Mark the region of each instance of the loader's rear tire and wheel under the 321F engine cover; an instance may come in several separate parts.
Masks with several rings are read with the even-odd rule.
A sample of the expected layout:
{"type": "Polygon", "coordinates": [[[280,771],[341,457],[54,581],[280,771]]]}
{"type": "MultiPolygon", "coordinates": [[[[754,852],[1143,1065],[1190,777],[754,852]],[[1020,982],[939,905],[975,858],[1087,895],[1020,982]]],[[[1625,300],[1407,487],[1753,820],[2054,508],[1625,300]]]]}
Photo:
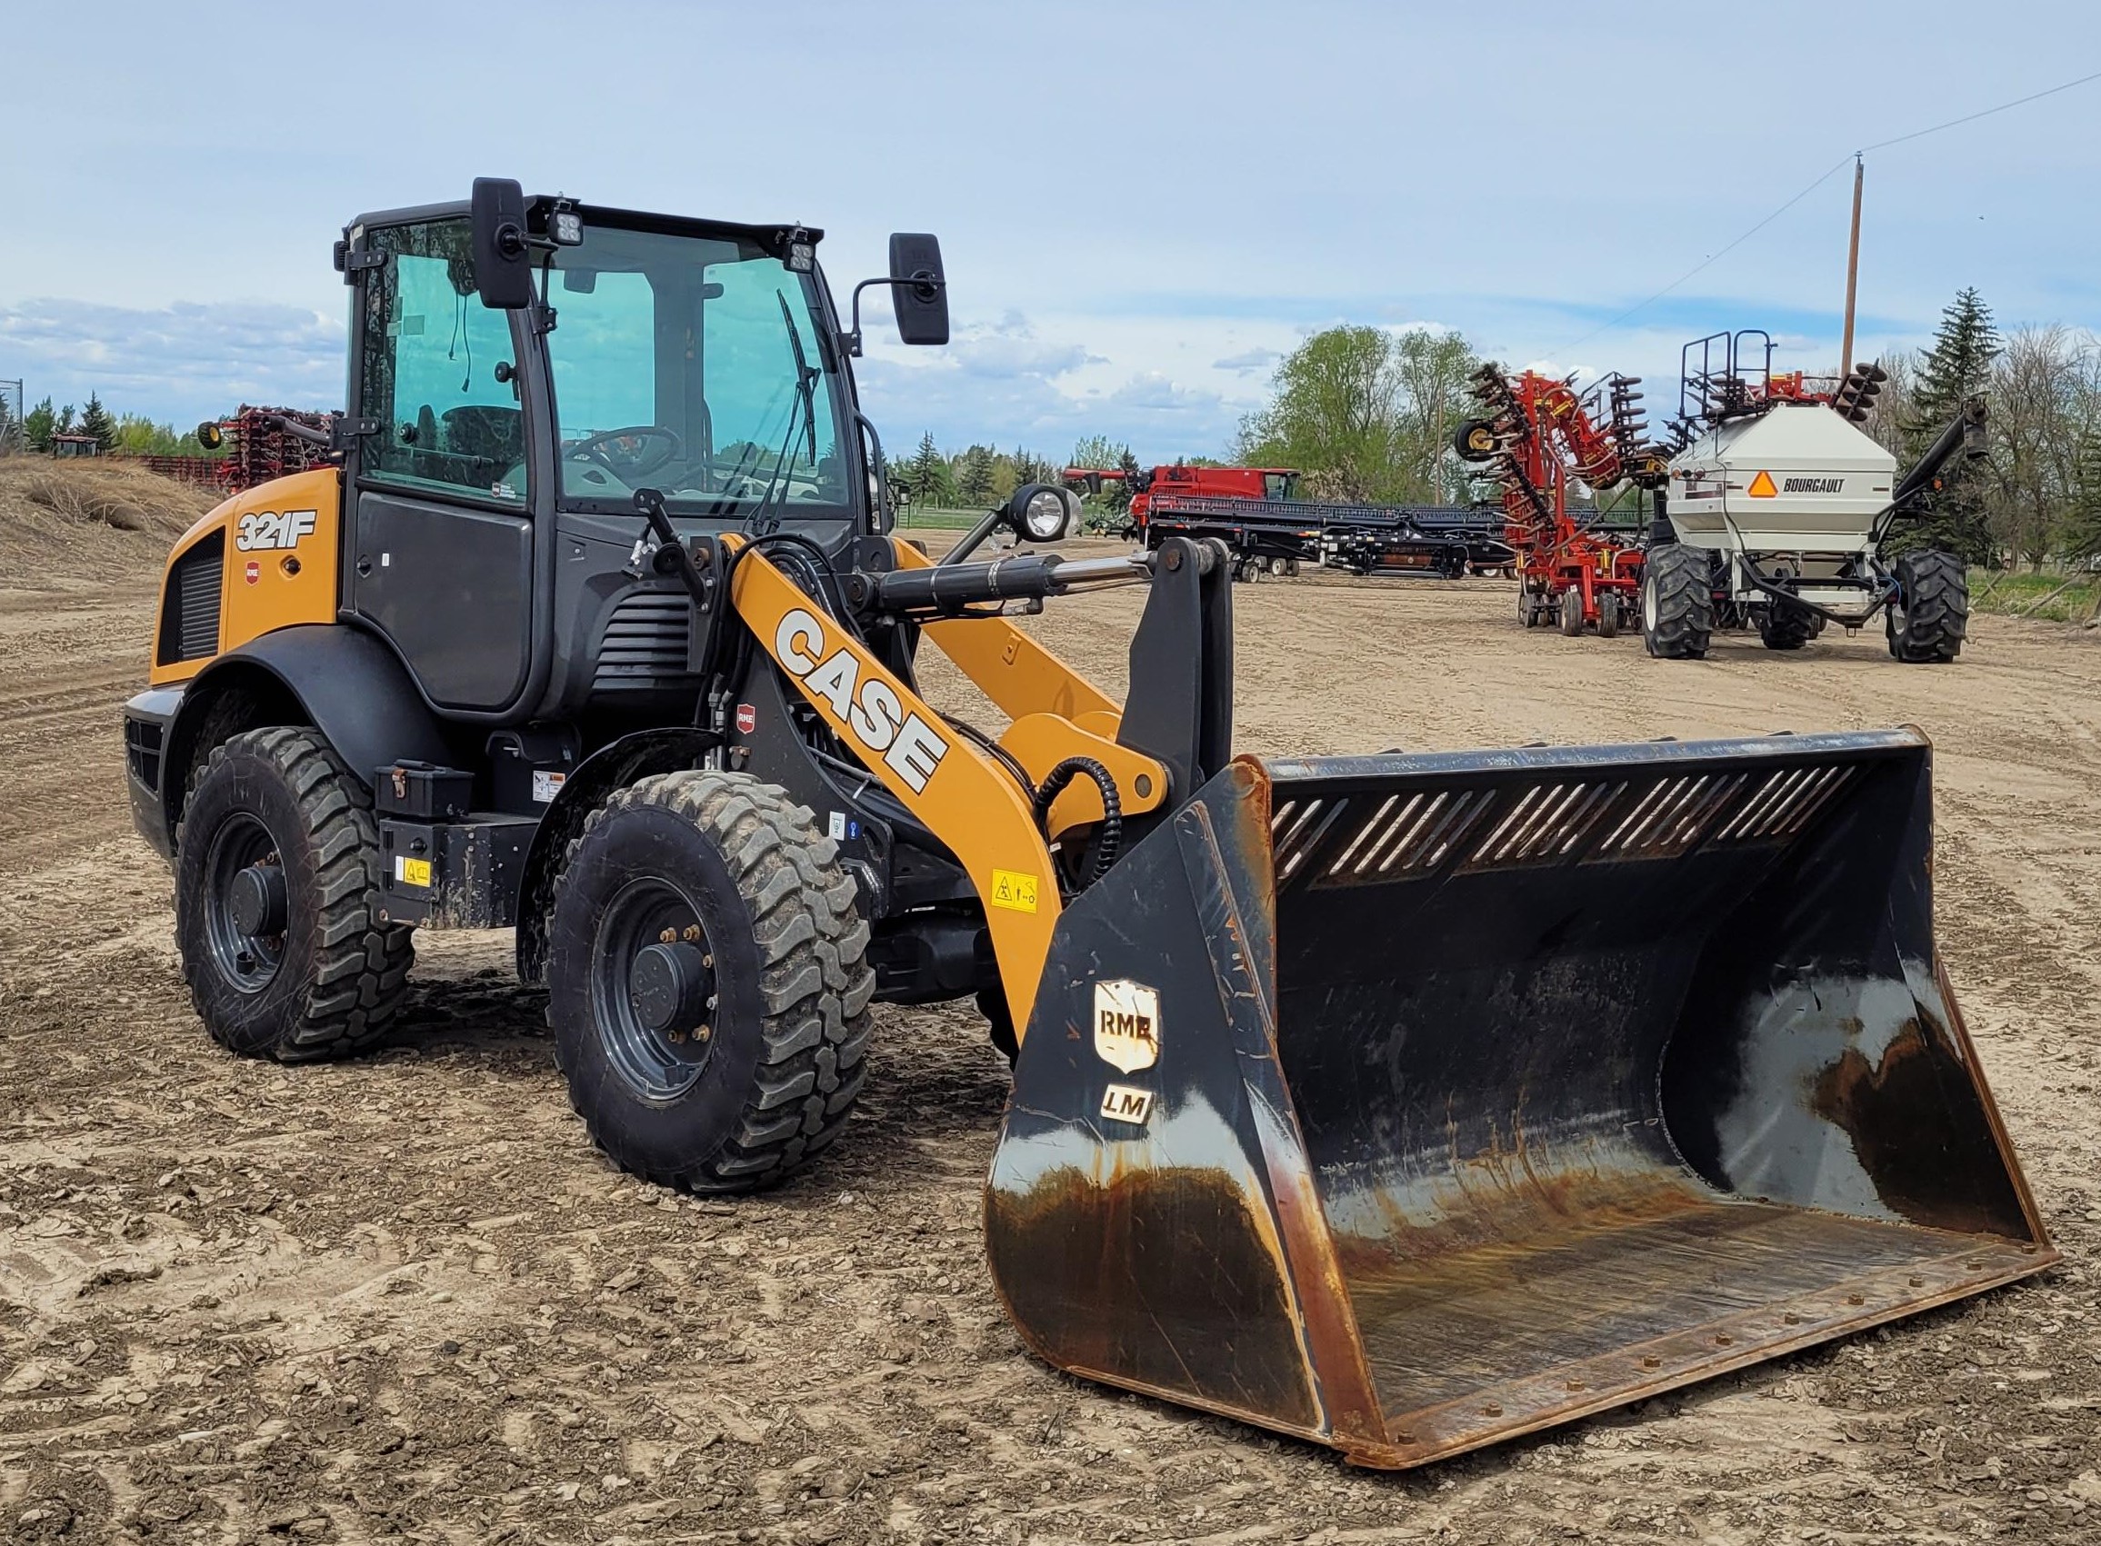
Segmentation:
{"type": "Polygon", "coordinates": [[[174,836],[174,941],[204,1029],[311,1063],[387,1033],[414,931],[378,920],[372,796],[319,731],[246,731],[197,769],[174,836]]]}

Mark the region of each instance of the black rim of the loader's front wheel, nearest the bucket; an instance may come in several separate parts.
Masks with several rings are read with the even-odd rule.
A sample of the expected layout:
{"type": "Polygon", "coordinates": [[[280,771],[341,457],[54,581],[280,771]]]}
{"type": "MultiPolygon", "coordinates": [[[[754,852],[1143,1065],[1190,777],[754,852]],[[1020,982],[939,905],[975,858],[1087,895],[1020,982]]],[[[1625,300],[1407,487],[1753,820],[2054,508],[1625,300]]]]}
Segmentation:
{"type": "Polygon", "coordinates": [[[714,1054],[714,949],[700,910],[668,880],[630,880],[607,903],[590,952],[590,1019],[613,1073],[645,1101],[677,1101],[693,1088],[714,1054]],[[651,1029],[635,1008],[632,973],[649,945],[698,945],[710,964],[706,1019],[651,1029]]]}

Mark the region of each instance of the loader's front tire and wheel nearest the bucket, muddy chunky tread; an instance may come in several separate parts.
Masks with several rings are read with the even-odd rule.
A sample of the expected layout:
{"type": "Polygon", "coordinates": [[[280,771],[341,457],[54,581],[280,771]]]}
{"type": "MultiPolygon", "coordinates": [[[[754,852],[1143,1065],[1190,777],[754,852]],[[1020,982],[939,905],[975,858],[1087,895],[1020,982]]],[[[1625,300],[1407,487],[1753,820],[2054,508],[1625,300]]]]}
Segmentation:
{"type": "Polygon", "coordinates": [[[861,1092],[866,954],[838,844],[786,790],[639,779],[590,815],[555,882],[546,1015],[569,1103],[647,1181],[782,1181],[861,1092]]]}

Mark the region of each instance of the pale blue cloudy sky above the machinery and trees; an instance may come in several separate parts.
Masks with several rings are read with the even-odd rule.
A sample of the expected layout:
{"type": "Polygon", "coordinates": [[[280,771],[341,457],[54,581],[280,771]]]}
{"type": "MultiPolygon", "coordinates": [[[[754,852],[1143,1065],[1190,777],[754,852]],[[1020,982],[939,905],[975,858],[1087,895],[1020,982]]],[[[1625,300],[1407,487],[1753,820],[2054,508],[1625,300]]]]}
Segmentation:
{"type": "MultiPolygon", "coordinates": [[[[342,399],[328,265],[366,208],[477,174],[826,227],[834,288],[937,231],[956,342],[864,397],[1063,456],[1216,454],[1332,321],[1628,370],[1765,326],[1836,359],[1864,143],[2101,69],[2101,6],[111,4],[8,29],[0,378],[193,422],[342,399]]],[[[1977,286],[2101,330],[2101,82],[1868,158],[1859,353],[1977,286]]],[[[1651,391],[1651,403],[1664,393],[1651,391]]]]}

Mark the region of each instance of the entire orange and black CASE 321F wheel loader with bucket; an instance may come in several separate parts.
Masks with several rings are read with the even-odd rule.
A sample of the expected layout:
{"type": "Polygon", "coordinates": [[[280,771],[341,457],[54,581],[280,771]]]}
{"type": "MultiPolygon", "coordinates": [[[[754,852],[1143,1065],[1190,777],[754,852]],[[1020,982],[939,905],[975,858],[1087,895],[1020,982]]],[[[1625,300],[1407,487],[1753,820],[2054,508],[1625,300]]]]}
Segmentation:
{"type": "MultiPolygon", "coordinates": [[[[740,1191],[838,1136],[872,1000],[975,994],[1029,1346],[1372,1466],[2055,1260],[1918,733],[1235,756],[1221,548],[975,557],[1050,487],[889,534],[815,246],[498,181],[345,231],[338,460],[176,544],[126,708],[212,1036],[355,1052],[416,928],[515,926],[592,1138],[740,1191]],[[1002,615],[1118,584],[1124,704],[1002,615]]],[[[935,242],[891,269],[945,340],[935,242]]]]}

